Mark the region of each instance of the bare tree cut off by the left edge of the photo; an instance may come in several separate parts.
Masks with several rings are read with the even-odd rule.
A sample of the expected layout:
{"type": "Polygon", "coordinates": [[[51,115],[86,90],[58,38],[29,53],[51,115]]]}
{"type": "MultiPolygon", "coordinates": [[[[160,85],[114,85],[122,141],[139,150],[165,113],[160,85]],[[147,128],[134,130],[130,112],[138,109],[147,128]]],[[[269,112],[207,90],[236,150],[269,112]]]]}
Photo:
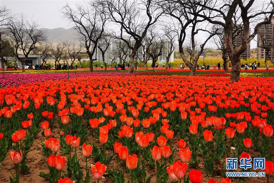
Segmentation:
{"type": "Polygon", "coordinates": [[[5,60],[4,56],[11,56],[12,50],[10,50],[10,43],[6,40],[5,32],[6,27],[9,25],[10,20],[12,19],[12,15],[9,9],[6,6],[0,7],[0,57],[3,62],[4,71],[6,70],[7,60],[5,60]]]}

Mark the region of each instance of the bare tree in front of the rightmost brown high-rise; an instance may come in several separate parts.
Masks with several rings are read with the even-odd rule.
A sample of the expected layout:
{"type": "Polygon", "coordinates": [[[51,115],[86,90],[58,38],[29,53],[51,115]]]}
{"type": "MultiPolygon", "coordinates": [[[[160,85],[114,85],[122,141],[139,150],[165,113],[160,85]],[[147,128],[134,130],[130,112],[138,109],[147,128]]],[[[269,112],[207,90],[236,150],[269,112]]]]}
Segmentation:
{"type": "Polygon", "coordinates": [[[269,55],[269,53],[274,48],[274,37],[272,35],[269,35],[268,30],[269,30],[268,25],[262,25],[258,29],[258,40],[257,40],[257,46],[259,48],[264,49],[266,70],[268,70],[269,68],[269,65],[267,63],[268,59],[270,60],[272,64],[274,64],[274,61],[272,60],[272,55],[269,55]]]}

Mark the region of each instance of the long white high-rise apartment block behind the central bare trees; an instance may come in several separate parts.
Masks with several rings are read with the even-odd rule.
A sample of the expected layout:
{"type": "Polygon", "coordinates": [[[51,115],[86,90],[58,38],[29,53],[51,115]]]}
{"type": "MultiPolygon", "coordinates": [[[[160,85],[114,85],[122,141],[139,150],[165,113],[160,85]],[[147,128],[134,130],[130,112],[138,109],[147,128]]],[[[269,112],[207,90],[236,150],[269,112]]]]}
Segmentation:
{"type": "MultiPolygon", "coordinates": [[[[132,46],[136,42],[136,40],[132,39],[132,38],[131,39],[126,38],[126,39],[129,41],[130,45],[132,45],[132,46]]],[[[114,54],[116,54],[118,52],[119,44],[120,44],[121,40],[120,39],[112,39],[110,42],[111,43],[110,43],[107,51],[105,52],[105,62],[110,64],[112,59],[115,58],[115,62],[119,63],[120,62],[119,57],[114,56],[114,54]]],[[[106,42],[105,41],[100,41],[99,45],[101,45],[101,48],[103,50],[106,48],[106,42]]],[[[170,48],[170,42],[167,41],[167,42],[165,42],[165,44],[162,48],[162,55],[158,57],[158,62],[160,62],[160,63],[165,62],[166,56],[169,53],[169,48],[170,48]]],[[[126,51],[127,51],[127,56],[126,56],[126,58],[123,58],[123,60],[125,60],[125,62],[129,62],[130,61],[131,49],[128,48],[128,49],[126,49],[126,51]]],[[[102,61],[102,53],[101,53],[99,48],[96,49],[96,54],[94,54],[93,58],[97,58],[97,61],[102,61]]],[[[142,49],[142,47],[140,47],[138,49],[136,59],[137,59],[137,62],[141,62],[143,60],[143,49],[142,49]]],[[[173,56],[173,54],[171,54],[171,57],[170,57],[169,61],[172,62],[173,60],[174,60],[174,56],[173,56]]],[[[151,61],[151,59],[149,59],[149,61],[151,61]]]]}

